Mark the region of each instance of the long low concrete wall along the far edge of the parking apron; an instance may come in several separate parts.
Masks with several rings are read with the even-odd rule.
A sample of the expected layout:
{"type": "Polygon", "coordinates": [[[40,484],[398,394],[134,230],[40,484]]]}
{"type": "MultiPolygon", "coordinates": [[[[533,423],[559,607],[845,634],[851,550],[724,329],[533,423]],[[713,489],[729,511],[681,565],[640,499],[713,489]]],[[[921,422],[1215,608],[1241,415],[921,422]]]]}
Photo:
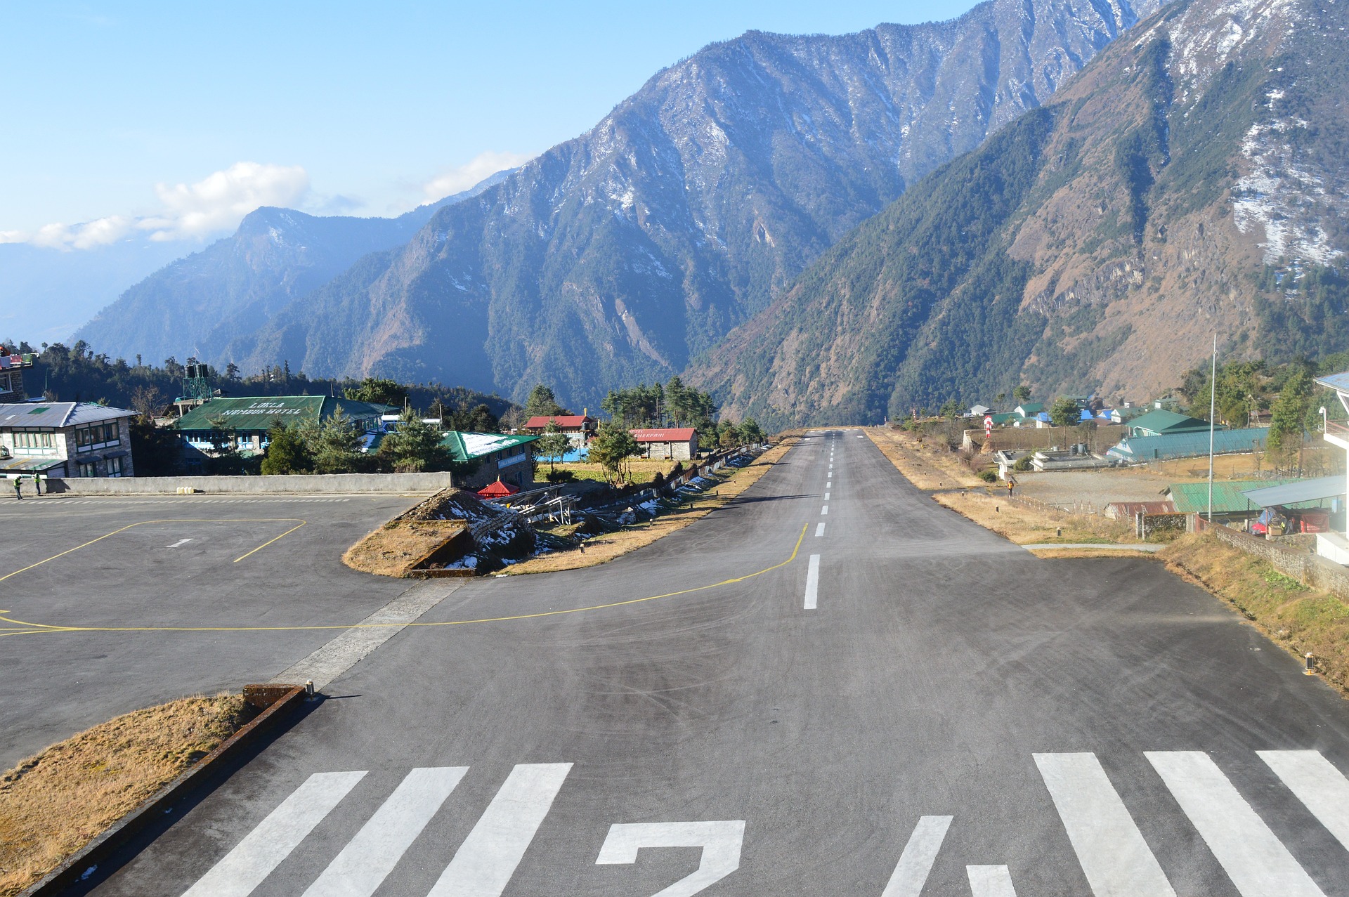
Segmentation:
{"type": "Polygon", "coordinates": [[[71,495],[173,495],[179,487],[206,494],[436,492],[449,473],[294,473],[283,476],[131,476],[50,479],[45,491],[71,495]]]}

